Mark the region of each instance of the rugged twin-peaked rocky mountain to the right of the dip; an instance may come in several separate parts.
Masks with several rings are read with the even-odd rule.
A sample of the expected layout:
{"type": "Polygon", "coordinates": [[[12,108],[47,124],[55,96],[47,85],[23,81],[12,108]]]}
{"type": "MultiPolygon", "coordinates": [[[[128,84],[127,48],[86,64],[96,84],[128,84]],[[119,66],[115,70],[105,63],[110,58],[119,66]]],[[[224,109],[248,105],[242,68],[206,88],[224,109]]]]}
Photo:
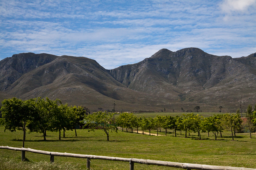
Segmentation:
{"type": "Polygon", "coordinates": [[[254,55],[233,59],[210,55],[199,48],[176,52],[161,49],[150,58],[109,73],[126,87],[140,92],[236,109],[241,95],[248,104],[255,104],[254,55]]]}

